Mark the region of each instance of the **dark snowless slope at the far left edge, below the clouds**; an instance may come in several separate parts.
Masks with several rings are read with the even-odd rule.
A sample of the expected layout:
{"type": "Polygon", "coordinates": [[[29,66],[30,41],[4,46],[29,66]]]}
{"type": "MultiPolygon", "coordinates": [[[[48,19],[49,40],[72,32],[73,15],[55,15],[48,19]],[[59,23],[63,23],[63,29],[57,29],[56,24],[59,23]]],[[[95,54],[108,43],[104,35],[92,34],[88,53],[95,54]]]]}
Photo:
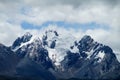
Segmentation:
{"type": "Polygon", "coordinates": [[[0,75],[12,75],[19,58],[15,53],[3,44],[0,44],[0,75]]]}

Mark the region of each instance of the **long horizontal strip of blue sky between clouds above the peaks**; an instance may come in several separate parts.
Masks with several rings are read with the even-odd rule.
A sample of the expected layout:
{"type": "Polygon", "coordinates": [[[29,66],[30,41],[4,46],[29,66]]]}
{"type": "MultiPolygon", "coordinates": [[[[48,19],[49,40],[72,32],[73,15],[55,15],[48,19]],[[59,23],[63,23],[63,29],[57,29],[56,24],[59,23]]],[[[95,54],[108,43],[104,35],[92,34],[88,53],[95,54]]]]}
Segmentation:
{"type": "Polygon", "coordinates": [[[96,28],[103,28],[103,29],[108,29],[108,26],[105,24],[97,24],[96,22],[91,22],[91,23],[70,23],[70,22],[64,22],[64,21],[47,21],[44,22],[42,25],[34,25],[28,22],[22,22],[21,26],[24,29],[40,29],[42,27],[47,27],[49,25],[56,25],[58,27],[64,27],[66,29],[68,28],[73,28],[73,29],[82,29],[82,30],[87,30],[87,29],[96,29],[96,28]]]}

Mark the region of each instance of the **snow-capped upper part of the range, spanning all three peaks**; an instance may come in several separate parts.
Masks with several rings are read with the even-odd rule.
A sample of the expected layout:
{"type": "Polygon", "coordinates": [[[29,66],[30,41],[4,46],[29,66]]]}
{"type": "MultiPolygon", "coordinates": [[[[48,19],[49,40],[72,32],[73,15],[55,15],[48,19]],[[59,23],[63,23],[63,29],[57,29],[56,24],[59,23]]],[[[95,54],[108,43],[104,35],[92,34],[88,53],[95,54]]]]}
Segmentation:
{"type": "Polygon", "coordinates": [[[32,59],[39,59],[41,51],[45,50],[45,53],[48,54],[46,58],[50,58],[57,68],[59,66],[64,67],[63,62],[67,58],[69,62],[70,55],[73,58],[96,59],[98,63],[103,61],[106,55],[104,50],[102,50],[104,45],[94,41],[91,36],[85,35],[78,41],[72,35],[63,35],[58,34],[55,30],[47,30],[40,40],[38,35],[26,33],[20,37],[23,40],[25,39],[25,41],[20,43],[16,51],[18,51],[19,55],[24,54],[32,59]]]}

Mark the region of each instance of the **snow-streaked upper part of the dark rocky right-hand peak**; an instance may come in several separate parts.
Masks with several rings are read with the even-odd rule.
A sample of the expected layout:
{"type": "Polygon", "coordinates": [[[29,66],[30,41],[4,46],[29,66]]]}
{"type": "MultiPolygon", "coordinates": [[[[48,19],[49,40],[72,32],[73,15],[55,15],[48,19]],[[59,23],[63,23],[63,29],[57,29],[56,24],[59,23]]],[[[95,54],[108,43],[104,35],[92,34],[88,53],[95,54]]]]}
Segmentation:
{"type": "Polygon", "coordinates": [[[83,36],[80,41],[75,41],[74,45],[71,46],[70,51],[72,53],[80,54],[82,58],[86,59],[99,59],[101,62],[104,58],[104,51],[101,48],[104,45],[94,41],[89,35],[83,36]]]}

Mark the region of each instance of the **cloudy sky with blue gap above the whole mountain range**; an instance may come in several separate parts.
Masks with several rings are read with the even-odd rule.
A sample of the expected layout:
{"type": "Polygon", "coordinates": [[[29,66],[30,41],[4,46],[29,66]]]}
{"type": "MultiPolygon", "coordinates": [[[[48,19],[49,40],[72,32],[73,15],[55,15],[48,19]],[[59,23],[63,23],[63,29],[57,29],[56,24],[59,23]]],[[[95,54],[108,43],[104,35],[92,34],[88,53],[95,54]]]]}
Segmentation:
{"type": "Polygon", "coordinates": [[[119,55],[120,0],[0,0],[0,43],[46,28],[91,35],[119,55]]]}

